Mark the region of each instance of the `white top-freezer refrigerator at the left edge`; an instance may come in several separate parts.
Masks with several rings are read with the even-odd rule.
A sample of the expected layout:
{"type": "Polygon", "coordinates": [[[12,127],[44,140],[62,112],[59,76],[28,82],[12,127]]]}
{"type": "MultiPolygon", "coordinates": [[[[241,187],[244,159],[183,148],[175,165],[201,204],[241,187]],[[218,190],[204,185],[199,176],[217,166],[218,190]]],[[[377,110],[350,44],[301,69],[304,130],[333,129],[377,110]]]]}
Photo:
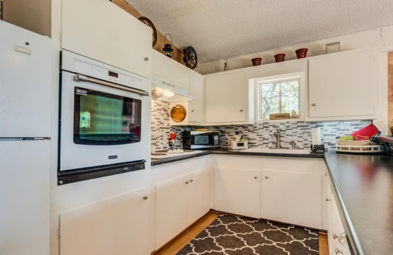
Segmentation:
{"type": "Polygon", "coordinates": [[[0,21],[0,254],[49,255],[51,39],[0,21]]]}

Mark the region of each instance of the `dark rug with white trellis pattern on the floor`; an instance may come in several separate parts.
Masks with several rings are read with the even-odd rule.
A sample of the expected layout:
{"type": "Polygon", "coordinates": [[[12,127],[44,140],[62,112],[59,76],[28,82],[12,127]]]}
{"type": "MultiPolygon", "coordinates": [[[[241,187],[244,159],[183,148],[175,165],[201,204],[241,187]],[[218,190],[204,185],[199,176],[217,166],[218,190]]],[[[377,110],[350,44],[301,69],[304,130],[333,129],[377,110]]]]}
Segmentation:
{"type": "Polygon", "coordinates": [[[176,255],[318,255],[318,231],[221,214],[176,255]]]}

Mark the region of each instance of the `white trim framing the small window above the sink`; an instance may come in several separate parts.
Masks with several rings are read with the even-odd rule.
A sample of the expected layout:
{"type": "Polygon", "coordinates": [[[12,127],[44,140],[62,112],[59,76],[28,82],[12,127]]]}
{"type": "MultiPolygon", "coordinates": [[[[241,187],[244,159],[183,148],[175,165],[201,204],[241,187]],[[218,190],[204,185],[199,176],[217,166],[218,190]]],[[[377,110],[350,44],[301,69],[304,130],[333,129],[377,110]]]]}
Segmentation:
{"type": "Polygon", "coordinates": [[[305,101],[306,101],[306,72],[298,72],[298,73],[290,73],[276,76],[268,76],[268,77],[260,77],[253,79],[254,86],[254,123],[277,123],[277,122],[297,122],[297,121],[305,121],[306,120],[306,110],[305,110],[305,101]],[[299,79],[299,119],[286,119],[286,120],[267,120],[267,122],[263,122],[260,116],[260,99],[259,99],[259,86],[258,84],[261,82],[276,82],[282,80],[292,80],[299,79]]]}

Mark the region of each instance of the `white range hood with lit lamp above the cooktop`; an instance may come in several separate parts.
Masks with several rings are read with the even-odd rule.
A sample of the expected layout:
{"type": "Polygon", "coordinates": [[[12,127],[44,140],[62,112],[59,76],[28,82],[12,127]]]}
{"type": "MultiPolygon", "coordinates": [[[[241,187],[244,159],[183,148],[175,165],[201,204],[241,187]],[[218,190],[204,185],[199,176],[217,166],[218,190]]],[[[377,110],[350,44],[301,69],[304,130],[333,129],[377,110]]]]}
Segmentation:
{"type": "Polygon", "coordinates": [[[186,102],[194,99],[189,94],[189,88],[156,75],[152,77],[151,98],[165,102],[186,102]]]}

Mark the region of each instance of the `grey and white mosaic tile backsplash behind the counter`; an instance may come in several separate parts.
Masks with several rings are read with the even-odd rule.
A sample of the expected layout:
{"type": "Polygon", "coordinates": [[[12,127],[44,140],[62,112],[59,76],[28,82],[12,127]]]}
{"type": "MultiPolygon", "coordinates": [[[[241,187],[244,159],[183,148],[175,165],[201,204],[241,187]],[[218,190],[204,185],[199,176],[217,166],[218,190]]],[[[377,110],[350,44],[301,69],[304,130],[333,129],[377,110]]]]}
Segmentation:
{"type": "MultiPolygon", "coordinates": [[[[322,143],[325,148],[335,149],[336,136],[348,135],[370,125],[371,121],[358,122],[282,122],[255,125],[214,126],[220,132],[220,145],[229,147],[229,141],[239,131],[248,139],[250,148],[270,148],[276,146],[276,138],[272,134],[276,129],[281,132],[281,147],[291,147],[294,140],[297,149],[309,149],[311,145],[311,128],[321,127],[322,143]]],[[[169,133],[176,133],[176,140],[182,147],[182,131],[200,127],[169,126],[169,103],[159,100],[151,101],[151,151],[168,150],[169,133]]]]}

